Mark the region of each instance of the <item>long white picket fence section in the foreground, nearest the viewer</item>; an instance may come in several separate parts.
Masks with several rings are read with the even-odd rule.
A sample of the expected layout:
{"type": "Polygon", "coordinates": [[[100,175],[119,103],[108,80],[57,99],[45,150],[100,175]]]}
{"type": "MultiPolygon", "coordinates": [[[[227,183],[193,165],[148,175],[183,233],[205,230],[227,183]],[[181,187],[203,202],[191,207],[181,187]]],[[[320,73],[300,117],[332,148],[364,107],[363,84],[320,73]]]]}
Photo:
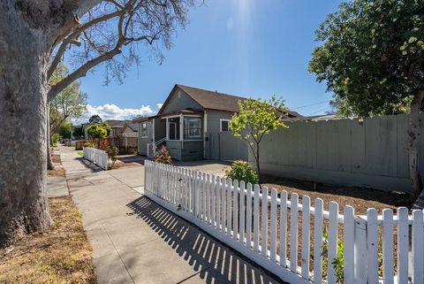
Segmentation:
{"type": "Polygon", "coordinates": [[[286,191],[148,160],[145,193],[289,283],[336,284],[339,234],[343,283],[424,283],[423,211],[357,216],[336,202],[325,211],[320,198],[299,203],[295,193],[289,200],[286,191]]]}

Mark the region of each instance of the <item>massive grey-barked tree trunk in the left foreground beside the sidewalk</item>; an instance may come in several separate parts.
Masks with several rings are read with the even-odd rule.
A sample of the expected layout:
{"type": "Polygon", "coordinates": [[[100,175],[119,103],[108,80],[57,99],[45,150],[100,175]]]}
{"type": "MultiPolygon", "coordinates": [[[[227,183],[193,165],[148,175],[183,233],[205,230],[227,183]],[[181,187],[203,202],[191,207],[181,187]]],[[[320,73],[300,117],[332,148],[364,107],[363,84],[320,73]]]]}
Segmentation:
{"type": "Polygon", "coordinates": [[[42,230],[50,223],[46,197],[49,43],[37,23],[24,19],[38,14],[19,11],[24,8],[13,1],[0,4],[0,247],[16,234],[42,230]]]}

